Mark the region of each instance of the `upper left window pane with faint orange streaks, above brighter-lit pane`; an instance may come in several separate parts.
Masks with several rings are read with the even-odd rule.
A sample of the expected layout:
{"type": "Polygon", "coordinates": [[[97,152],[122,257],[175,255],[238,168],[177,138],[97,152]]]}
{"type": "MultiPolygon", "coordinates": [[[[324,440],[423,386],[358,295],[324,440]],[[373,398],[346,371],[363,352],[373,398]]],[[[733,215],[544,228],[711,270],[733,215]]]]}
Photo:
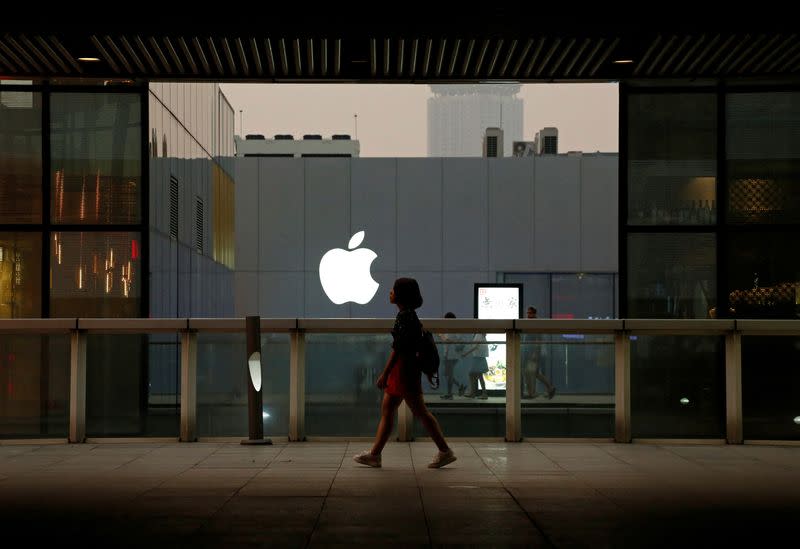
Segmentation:
{"type": "Polygon", "coordinates": [[[51,96],[53,223],[141,222],[141,98],[51,96]]]}

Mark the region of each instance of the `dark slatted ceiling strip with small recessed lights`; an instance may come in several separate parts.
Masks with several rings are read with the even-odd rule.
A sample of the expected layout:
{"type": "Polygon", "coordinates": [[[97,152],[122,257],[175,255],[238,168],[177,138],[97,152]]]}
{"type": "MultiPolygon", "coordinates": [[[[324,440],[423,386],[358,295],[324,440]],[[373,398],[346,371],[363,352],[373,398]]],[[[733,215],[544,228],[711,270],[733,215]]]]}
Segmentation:
{"type": "Polygon", "coordinates": [[[414,35],[368,38],[247,34],[0,35],[0,76],[236,81],[624,80],[786,76],[800,70],[798,33],[414,35]],[[96,56],[97,63],[80,63],[96,56]],[[630,58],[631,65],[614,65],[630,58]],[[367,63],[363,63],[366,60],[367,63]]]}

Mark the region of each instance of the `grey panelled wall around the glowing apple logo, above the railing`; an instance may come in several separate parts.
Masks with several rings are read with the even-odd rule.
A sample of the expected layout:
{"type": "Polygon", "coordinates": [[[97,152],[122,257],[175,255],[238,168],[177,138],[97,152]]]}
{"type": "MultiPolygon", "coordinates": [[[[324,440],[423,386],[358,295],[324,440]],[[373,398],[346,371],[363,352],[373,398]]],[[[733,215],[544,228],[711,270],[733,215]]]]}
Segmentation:
{"type": "Polygon", "coordinates": [[[235,175],[236,316],[392,317],[398,276],[420,281],[420,316],[471,318],[474,283],[498,281],[542,317],[615,315],[616,154],[237,158],[235,175]],[[336,305],[320,262],[359,231],[379,288],[336,305]]]}

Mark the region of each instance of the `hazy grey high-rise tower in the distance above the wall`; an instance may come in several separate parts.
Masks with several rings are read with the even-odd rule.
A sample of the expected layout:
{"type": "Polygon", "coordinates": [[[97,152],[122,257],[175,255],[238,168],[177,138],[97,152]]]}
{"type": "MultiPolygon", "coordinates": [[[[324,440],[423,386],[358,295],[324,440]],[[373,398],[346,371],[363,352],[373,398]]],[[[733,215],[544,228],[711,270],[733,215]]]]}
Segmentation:
{"type": "Polygon", "coordinates": [[[522,140],[520,84],[436,84],[428,99],[428,156],[481,156],[487,128],[500,128],[500,156],[522,140]]]}

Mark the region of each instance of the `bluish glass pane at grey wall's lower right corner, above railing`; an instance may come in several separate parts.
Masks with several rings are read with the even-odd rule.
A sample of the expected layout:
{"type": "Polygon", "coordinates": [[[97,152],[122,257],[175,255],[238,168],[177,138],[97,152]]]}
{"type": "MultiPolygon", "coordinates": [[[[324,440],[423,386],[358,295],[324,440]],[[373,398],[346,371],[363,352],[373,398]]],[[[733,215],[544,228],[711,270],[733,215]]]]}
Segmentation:
{"type": "Polygon", "coordinates": [[[614,313],[614,275],[553,275],[553,318],[614,318],[614,313]]]}

